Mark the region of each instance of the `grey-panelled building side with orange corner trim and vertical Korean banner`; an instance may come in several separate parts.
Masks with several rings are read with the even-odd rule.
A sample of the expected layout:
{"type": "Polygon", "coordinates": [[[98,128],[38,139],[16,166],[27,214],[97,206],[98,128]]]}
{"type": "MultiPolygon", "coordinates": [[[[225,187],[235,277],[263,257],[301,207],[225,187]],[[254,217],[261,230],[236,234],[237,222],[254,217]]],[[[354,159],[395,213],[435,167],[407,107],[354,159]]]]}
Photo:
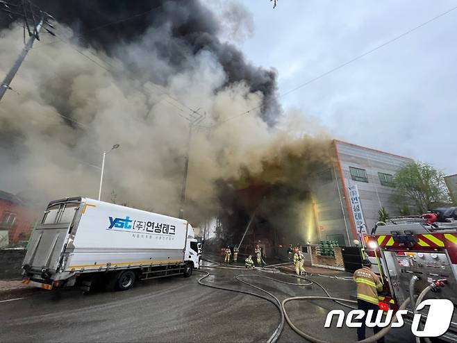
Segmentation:
{"type": "Polygon", "coordinates": [[[414,160],[340,140],[332,144],[333,168],[320,172],[314,183],[315,236],[348,246],[358,239],[360,228],[371,230],[381,208],[391,217],[399,215],[392,202],[392,178],[414,160]]]}

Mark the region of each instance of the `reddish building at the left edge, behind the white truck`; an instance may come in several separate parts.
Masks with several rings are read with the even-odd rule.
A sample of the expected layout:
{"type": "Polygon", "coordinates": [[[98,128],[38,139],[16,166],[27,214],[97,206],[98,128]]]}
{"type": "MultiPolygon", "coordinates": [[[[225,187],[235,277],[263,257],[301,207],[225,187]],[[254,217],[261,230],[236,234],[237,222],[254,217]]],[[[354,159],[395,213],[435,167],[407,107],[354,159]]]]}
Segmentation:
{"type": "Polygon", "coordinates": [[[22,240],[28,240],[33,224],[40,217],[40,213],[31,210],[25,206],[19,206],[10,201],[0,199],[0,228],[8,228],[8,239],[10,245],[17,244],[17,242],[22,240]],[[1,221],[3,220],[3,215],[5,212],[13,212],[16,215],[15,222],[13,226],[6,227],[3,226],[1,221]]]}

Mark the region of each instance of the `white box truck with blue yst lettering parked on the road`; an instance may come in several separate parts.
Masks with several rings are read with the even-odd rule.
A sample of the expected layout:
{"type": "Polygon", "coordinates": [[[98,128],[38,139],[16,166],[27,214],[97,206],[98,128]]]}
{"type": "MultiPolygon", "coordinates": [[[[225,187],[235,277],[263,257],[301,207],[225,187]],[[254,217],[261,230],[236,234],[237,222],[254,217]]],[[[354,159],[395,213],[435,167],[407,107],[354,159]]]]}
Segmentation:
{"type": "Polygon", "coordinates": [[[83,197],[51,201],[22,265],[23,283],[128,290],[135,280],[199,268],[188,221],[83,197]]]}

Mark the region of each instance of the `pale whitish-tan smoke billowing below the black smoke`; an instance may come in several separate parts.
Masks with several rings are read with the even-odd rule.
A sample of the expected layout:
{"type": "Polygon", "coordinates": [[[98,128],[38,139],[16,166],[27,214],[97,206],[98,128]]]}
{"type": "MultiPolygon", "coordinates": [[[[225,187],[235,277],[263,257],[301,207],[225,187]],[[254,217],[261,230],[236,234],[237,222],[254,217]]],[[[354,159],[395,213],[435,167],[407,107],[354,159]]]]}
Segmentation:
{"type": "MultiPolygon", "coordinates": [[[[0,39],[3,74],[22,49],[22,29],[3,30],[0,39]]],[[[114,60],[90,47],[52,41],[42,35],[36,42],[0,103],[1,190],[40,194],[44,203],[96,197],[102,152],[120,144],[106,158],[102,199],[110,201],[115,192],[117,203],[176,216],[188,149],[183,117],[190,115],[188,108],[199,108],[206,127],[192,134],[185,207],[185,217],[195,222],[219,211],[217,181],[240,178],[242,170],[262,174],[265,160],[303,150],[311,140],[304,140],[304,133],[323,133],[319,127],[310,132],[296,110],[274,127],[260,110],[241,115],[261,108],[263,95],[250,92],[243,81],[226,85],[224,69],[210,51],[188,57],[189,67],[176,71],[135,44],[119,46],[128,53],[114,60]],[[127,72],[126,63],[135,60],[150,66],[145,74],[160,69],[167,88],[127,72]]],[[[303,157],[312,153],[328,160],[325,141],[313,140],[316,152],[306,149],[303,157]]]]}

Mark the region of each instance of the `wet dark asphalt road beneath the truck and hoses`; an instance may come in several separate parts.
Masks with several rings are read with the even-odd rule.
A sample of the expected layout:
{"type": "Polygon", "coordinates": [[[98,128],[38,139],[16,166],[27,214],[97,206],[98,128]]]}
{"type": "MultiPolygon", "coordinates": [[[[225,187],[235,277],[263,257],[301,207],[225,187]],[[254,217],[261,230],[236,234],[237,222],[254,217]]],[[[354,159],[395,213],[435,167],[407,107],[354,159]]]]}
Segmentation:
{"type": "MultiPolygon", "coordinates": [[[[202,268],[210,272],[203,282],[260,293],[235,281],[240,274],[265,275],[279,280],[306,281],[252,270],[202,268]]],[[[349,274],[341,273],[340,276],[349,274]]],[[[190,278],[173,276],[140,281],[126,292],[68,289],[37,290],[24,299],[0,302],[0,342],[266,342],[279,323],[276,307],[247,294],[215,290],[190,278]]],[[[351,281],[311,276],[332,296],[355,295],[351,281]]],[[[263,278],[244,280],[283,300],[290,296],[324,295],[316,285],[285,285],[263,278]]],[[[21,297],[21,296],[18,296],[21,297]]],[[[287,305],[301,330],[331,342],[355,342],[354,328],[324,328],[330,310],[343,308],[333,301],[292,302],[287,305]]],[[[367,334],[372,333],[367,330],[367,334]]],[[[408,328],[392,329],[386,342],[414,342],[408,328]]],[[[288,324],[279,342],[306,342],[288,324]]]]}

